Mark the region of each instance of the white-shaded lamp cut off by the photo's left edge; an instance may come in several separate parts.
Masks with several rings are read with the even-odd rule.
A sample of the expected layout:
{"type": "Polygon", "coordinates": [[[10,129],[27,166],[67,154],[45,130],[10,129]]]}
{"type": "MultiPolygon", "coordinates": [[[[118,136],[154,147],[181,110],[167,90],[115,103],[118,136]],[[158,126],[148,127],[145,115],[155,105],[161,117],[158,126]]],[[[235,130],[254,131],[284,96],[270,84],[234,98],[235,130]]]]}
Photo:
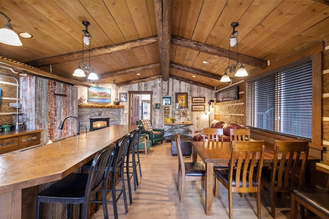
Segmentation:
{"type": "Polygon", "coordinates": [[[4,28],[0,29],[0,43],[10,46],[22,46],[23,44],[19,35],[13,31],[13,28],[10,25],[11,19],[1,11],[0,14],[4,15],[7,19],[7,24],[4,26],[4,28]]]}

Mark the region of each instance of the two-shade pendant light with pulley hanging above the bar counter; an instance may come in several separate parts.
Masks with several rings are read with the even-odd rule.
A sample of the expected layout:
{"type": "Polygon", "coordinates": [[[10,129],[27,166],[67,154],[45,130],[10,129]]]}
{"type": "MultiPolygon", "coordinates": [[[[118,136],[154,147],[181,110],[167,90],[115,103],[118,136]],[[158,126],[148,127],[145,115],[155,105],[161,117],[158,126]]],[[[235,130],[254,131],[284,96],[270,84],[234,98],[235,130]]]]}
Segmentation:
{"type": "Polygon", "coordinates": [[[82,24],[86,27],[85,30],[82,30],[82,62],[78,64],[78,68],[74,71],[73,76],[85,77],[86,76],[85,73],[87,73],[88,79],[97,80],[98,76],[95,73],[94,67],[90,65],[90,39],[92,38],[92,34],[88,32],[88,26],[90,25],[90,23],[87,21],[83,21],[82,24]],[[84,45],[89,47],[89,65],[83,62],[84,45]]]}

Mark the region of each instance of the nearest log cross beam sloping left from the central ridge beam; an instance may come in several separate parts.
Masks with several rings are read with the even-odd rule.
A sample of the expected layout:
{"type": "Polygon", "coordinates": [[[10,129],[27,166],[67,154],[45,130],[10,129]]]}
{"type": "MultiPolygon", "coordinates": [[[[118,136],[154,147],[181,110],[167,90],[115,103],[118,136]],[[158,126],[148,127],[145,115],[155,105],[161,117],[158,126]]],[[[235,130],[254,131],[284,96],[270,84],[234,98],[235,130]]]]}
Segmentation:
{"type": "MultiPolygon", "coordinates": [[[[104,55],[108,53],[119,52],[123,50],[133,49],[137,47],[148,46],[150,44],[154,44],[158,42],[157,36],[146,37],[142,39],[137,39],[136,41],[130,41],[126,43],[115,44],[111,46],[103,46],[94,49],[90,49],[90,56],[98,56],[104,55]]],[[[89,50],[84,52],[84,55],[87,57],[89,56],[89,50]]],[[[40,58],[35,59],[32,61],[26,62],[27,65],[34,66],[37,68],[49,66],[49,65],[56,65],[62,64],[67,62],[76,61],[78,59],[82,59],[82,51],[79,52],[72,52],[64,55],[56,55],[47,58],[40,58]]]]}

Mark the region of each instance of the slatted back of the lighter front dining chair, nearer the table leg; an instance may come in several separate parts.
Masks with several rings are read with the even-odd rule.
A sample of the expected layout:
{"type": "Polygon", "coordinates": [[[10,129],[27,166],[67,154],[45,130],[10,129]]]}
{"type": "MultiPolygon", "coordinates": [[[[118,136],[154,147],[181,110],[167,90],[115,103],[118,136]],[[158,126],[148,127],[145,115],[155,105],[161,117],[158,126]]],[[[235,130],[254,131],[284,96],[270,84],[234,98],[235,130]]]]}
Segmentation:
{"type": "MultiPolygon", "coordinates": [[[[232,177],[229,177],[229,185],[232,185],[233,172],[235,172],[236,188],[255,187],[254,180],[260,182],[260,171],[263,167],[264,141],[232,141],[231,149],[231,163],[233,165],[230,166],[229,174],[232,177]]],[[[234,191],[233,188],[232,191],[234,191]]]]}

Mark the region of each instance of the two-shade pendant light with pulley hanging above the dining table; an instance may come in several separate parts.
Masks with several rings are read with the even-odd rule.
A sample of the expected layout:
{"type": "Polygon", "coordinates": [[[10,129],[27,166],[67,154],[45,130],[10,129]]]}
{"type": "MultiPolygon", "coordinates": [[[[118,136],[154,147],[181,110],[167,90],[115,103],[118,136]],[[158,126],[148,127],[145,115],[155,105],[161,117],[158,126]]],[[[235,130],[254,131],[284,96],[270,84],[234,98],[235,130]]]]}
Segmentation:
{"type": "Polygon", "coordinates": [[[234,76],[236,77],[244,77],[247,76],[247,70],[244,68],[243,63],[239,62],[237,59],[237,31],[235,31],[235,28],[237,26],[239,26],[239,23],[237,22],[233,22],[231,23],[231,26],[233,27],[233,31],[229,37],[229,47],[228,47],[228,67],[225,69],[225,73],[221,78],[220,82],[230,82],[231,78],[228,76],[228,74],[226,73],[227,70],[229,70],[229,74],[235,72],[236,70],[236,66],[241,64],[240,68],[237,69],[237,71],[235,72],[234,76]],[[236,46],[236,63],[233,64],[232,66],[230,66],[230,48],[236,46]]]}

